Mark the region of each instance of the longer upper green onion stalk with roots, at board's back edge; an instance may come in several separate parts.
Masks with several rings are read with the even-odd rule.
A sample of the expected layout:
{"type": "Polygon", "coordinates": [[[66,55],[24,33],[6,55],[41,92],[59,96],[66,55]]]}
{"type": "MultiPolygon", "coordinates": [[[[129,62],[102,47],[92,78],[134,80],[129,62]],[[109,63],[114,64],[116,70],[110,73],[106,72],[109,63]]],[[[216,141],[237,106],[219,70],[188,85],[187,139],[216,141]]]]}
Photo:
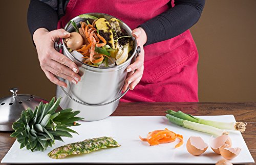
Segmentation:
{"type": "Polygon", "coordinates": [[[228,130],[239,130],[240,132],[244,132],[246,129],[246,123],[244,122],[218,122],[218,121],[211,121],[211,120],[205,120],[201,118],[197,118],[195,116],[192,116],[190,114],[185,114],[181,111],[175,112],[172,110],[168,110],[165,113],[183,119],[190,122],[195,122],[199,124],[209,125],[212,127],[216,127],[219,129],[228,129],[228,130]]]}

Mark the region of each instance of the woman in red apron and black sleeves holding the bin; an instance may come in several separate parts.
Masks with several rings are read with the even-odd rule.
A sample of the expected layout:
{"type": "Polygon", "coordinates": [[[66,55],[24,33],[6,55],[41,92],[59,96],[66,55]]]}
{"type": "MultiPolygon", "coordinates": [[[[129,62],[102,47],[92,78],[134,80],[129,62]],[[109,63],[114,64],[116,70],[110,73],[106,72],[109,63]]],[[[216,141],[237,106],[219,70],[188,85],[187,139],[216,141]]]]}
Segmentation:
{"type": "Polygon", "coordinates": [[[133,29],[141,47],[136,62],[127,67],[121,101],[198,101],[198,52],[189,28],[203,10],[204,0],[31,0],[28,25],[46,76],[62,87],[55,75],[79,83],[78,67],[53,45],[70,36],[63,28],[84,13],[113,15],[133,29]],[[58,29],[58,30],[56,30],[58,29]],[[136,88],[135,88],[136,86],[136,88]]]}

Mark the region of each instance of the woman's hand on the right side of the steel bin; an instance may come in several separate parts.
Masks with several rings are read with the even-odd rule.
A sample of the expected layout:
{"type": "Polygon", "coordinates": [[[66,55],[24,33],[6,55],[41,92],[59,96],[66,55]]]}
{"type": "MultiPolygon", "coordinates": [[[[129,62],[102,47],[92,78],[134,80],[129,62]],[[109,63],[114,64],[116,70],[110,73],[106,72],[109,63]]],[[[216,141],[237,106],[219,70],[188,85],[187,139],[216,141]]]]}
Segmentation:
{"type": "Polygon", "coordinates": [[[140,46],[141,51],[139,56],[136,58],[136,61],[133,64],[129,65],[126,69],[128,73],[122,89],[123,91],[125,91],[128,87],[130,88],[130,90],[133,90],[135,86],[139,83],[144,70],[143,45],[147,41],[146,33],[142,28],[137,28],[133,30],[132,35],[136,38],[137,46],[140,46]]]}

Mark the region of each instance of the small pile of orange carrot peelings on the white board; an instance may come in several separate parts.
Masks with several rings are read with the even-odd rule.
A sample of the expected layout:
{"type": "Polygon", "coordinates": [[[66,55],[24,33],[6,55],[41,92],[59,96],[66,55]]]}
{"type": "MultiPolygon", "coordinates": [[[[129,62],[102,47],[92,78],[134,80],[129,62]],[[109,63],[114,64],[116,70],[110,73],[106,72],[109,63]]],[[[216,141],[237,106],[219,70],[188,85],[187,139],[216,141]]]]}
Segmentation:
{"type": "Polygon", "coordinates": [[[167,128],[164,130],[155,130],[149,132],[146,138],[142,138],[141,136],[139,137],[142,141],[148,142],[150,146],[174,142],[176,138],[180,139],[180,143],[178,143],[175,148],[178,148],[183,144],[183,135],[170,131],[167,128]]]}

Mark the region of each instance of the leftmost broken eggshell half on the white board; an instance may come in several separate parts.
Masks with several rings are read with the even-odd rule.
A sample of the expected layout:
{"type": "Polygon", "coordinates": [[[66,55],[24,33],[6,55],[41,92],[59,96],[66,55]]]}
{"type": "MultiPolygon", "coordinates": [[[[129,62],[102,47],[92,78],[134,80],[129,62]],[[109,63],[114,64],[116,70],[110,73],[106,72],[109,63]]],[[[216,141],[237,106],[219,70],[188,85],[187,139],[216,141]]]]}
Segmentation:
{"type": "Polygon", "coordinates": [[[187,151],[192,155],[201,155],[206,151],[208,145],[203,141],[201,137],[190,136],[187,140],[187,151]]]}

